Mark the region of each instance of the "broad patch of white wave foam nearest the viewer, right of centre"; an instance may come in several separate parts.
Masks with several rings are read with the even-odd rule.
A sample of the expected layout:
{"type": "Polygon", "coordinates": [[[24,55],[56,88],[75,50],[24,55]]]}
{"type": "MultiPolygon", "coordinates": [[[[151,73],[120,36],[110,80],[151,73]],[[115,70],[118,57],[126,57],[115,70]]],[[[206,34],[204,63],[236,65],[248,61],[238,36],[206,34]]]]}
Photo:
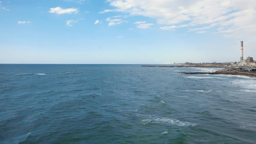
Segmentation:
{"type": "Polygon", "coordinates": [[[141,120],[142,124],[167,124],[167,125],[177,125],[177,126],[191,126],[194,127],[197,124],[190,123],[187,121],[179,121],[171,118],[164,117],[152,117],[150,115],[138,115],[147,119],[141,120]]]}

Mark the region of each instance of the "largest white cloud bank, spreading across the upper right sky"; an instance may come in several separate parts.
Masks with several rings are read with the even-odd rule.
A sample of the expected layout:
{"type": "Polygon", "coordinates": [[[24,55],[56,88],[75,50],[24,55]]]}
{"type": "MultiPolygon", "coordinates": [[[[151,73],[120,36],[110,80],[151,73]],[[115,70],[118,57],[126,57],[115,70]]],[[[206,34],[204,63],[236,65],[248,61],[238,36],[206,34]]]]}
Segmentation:
{"type": "MultiPolygon", "coordinates": [[[[155,19],[160,29],[212,29],[229,38],[256,39],[256,0],[107,0],[112,10],[155,19]],[[221,30],[217,30],[224,27],[221,30]]],[[[145,23],[146,24],[146,23],[145,23]]],[[[139,27],[147,27],[141,25],[139,27]]]]}

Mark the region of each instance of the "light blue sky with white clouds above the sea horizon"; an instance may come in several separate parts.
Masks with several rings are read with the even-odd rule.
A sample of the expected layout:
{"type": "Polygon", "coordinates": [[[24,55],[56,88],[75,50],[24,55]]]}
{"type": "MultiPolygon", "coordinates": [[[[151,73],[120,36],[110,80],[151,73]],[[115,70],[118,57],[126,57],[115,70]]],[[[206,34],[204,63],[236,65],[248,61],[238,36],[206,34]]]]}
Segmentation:
{"type": "Polygon", "coordinates": [[[0,0],[0,63],[256,59],[256,0],[0,0]]]}

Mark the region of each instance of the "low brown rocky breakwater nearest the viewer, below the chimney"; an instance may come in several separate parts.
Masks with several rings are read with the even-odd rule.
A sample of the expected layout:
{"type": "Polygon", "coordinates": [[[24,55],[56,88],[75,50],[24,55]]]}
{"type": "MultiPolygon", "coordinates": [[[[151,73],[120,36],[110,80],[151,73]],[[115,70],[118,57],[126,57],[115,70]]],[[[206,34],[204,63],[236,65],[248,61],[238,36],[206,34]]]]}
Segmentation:
{"type": "Polygon", "coordinates": [[[178,72],[180,74],[188,74],[188,75],[194,75],[194,74],[209,74],[209,75],[243,75],[243,76],[249,76],[252,78],[256,78],[256,73],[252,72],[178,72]]]}

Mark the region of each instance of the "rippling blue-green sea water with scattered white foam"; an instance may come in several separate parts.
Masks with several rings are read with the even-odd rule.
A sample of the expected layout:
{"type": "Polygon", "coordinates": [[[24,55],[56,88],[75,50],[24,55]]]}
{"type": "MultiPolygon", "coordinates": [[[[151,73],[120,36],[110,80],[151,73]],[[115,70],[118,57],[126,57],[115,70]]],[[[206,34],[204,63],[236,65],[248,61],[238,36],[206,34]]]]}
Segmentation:
{"type": "Polygon", "coordinates": [[[1,144],[256,144],[256,79],[214,68],[0,65],[1,144]]]}

